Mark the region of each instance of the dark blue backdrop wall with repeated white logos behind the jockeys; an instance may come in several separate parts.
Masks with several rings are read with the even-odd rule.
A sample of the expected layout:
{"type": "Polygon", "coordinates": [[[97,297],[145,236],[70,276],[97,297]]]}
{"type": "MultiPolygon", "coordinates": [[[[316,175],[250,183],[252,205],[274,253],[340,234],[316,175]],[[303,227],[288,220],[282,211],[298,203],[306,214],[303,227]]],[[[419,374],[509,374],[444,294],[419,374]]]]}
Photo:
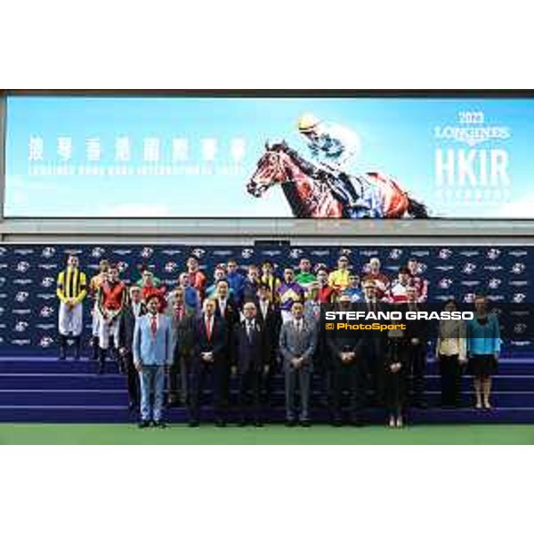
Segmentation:
{"type": "MultiPolygon", "coordinates": [[[[101,258],[119,263],[122,278],[135,281],[139,266],[149,265],[167,286],[172,286],[189,255],[198,258],[202,270],[211,278],[214,266],[235,258],[243,268],[270,259],[278,269],[296,267],[299,259],[312,263],[336,264],[340,254],[349,255],[352,267],[361,271],[369,257],[378,256],[383,271],[391,276],[411,256],[422,264],[429,280],[429,300],[444,301],[455,296],[468,301],[483,291],[498,303],[533,302],[530,280],[534,275],[532,247],[255,247],[183,245],[4,245],[0,247],[0,354],[50,353],[56,350],[57,298],[55,280],[65,255],[80,255],[88,278],[97,270],[101,258]]],[[[85,334],[90,335],[90,305],[85,304],[85,334]]],[[[522,317],[518,321],[528,321],[522,317]]],[[[521,325],[517,325],[521,330],[521,325]]],[[[518,330],[518,331],[519,331],[518,330]]],[[[514,328],[512,329],[514,331],[514,328]]],[[[508,352],[529,352],[532,340],[522,336],[505,340],[508,352]]]]}

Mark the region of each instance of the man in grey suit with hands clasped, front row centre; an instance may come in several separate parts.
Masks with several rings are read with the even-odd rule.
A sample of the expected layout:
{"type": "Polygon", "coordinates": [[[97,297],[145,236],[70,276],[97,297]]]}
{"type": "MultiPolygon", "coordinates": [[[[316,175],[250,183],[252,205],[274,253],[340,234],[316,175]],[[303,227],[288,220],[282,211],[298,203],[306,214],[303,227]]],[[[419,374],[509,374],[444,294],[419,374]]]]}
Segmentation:
{"type": "Polygon", "coordinates": [[[280,353],[286,378],[286,425],[295,426],[296,382],[300,389],[302,426],[310,426],[310,377],[312,356],[317,344],[317,327],[305,320],[303,303],[296,301],[291,306],[292,319],[280,329],[280,353]]]}

